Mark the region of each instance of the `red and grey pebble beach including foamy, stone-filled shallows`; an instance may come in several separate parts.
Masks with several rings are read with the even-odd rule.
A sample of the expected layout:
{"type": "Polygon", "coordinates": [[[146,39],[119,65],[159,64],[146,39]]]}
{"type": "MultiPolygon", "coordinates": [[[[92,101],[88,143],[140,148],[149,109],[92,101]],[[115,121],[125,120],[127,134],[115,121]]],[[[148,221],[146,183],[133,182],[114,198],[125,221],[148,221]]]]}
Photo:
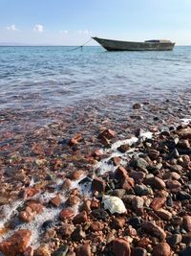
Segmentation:
{"type": "Polygon", "coordinates": [[[190,96],[3,110],[1,255],[191,255],[190,96]]]}

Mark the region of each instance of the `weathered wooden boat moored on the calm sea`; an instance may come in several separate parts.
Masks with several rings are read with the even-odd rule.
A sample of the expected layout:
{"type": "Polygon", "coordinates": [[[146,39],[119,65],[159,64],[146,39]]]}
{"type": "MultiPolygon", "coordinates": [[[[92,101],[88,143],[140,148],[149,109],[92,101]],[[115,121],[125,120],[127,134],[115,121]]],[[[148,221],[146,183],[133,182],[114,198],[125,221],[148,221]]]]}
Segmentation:
{"type": "Polygon", "coordinates": [[[170,40],[147,40],[144,42],[118,41],[92,37],[107,51],[171,51],[175,43],[170,40]]]}

